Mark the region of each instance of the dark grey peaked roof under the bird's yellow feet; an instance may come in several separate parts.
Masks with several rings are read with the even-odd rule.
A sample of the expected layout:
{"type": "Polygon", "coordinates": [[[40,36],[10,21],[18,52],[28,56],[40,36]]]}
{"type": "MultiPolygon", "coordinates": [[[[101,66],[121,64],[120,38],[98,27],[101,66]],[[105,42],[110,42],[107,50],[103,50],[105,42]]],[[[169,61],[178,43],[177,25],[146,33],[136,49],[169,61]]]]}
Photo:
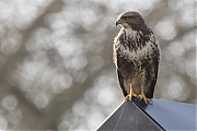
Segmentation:
{"type": "Polygon", "coordinates": [[[151,104],[127,100],[97,129],[197,130],[197,105],[152,99],[151,104]]]}

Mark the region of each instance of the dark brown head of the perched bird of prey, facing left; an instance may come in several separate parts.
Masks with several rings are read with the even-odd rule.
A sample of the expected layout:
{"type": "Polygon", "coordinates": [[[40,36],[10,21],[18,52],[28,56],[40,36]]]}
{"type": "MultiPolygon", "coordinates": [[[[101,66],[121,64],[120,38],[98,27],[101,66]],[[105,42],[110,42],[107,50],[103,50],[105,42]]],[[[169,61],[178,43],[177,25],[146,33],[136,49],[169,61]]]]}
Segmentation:
{"type": "Polygon", "coordinates": [[[121,25],[125,28],[137,27],[140,24],[144,23],[144,20],[138,12],[135,11],[126,11],[118,15],[116,20],[116,26],[121,25]]]}

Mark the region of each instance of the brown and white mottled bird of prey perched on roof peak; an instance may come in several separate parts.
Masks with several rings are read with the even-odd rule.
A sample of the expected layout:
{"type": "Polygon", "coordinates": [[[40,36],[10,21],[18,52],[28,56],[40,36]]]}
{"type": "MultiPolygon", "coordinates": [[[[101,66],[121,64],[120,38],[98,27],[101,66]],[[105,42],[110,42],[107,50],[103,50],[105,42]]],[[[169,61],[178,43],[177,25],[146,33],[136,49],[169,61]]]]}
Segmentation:
{"type": "Polygon", "coordinates": [[[114,63],[125,99],[153,97],[160,62],[160,46],[142,16],[135,11],[118,15],[121,28],[114,38],[114,63]]]}

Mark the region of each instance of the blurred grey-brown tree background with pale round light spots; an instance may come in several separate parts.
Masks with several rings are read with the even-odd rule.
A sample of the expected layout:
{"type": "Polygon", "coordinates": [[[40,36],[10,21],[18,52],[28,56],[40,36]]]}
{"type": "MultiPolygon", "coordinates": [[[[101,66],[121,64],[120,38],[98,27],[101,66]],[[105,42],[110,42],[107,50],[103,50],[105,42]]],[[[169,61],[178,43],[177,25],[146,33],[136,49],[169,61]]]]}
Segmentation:
{"type": "Polygon", "coordinates": [[[124,102],[116,17],[138,11],[162,50],[154,97],[196,104],[195,0],[0,0],[0,129],[95,130],[124,102]]]}

